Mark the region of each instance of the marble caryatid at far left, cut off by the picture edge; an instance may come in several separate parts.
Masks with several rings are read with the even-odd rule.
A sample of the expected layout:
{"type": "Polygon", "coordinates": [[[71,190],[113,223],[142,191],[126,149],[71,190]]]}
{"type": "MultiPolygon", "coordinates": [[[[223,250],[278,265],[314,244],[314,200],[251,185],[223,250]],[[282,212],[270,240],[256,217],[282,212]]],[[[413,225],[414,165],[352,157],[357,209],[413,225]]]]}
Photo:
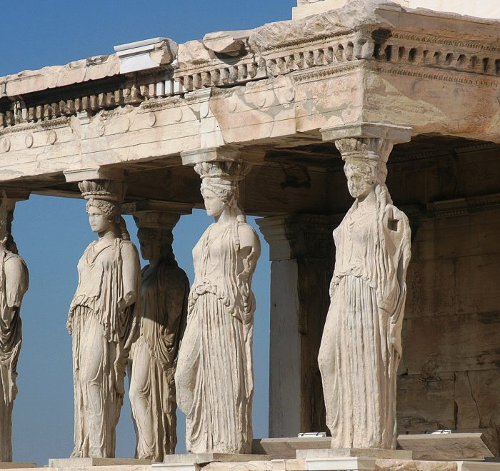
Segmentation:
{"type": "Polygon", "coordinates": [[[12,407],[21,350],[19,311],[28,290],[28,268],[10,234],[5,193],[0,203],[0,461],[12,461],[12,407]]]}

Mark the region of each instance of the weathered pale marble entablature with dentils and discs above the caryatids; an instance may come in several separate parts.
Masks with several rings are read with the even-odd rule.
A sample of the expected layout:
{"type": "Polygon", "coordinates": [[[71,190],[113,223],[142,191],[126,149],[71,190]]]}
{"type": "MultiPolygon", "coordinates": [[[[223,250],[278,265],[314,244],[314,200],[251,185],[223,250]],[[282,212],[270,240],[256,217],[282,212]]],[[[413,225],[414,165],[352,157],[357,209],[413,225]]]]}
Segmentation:
{"type": "Polygon", "coordinates": [[[240,36],[207,36],[211,46],[180,44],[176,61],[144,74],[120,74],[109,56],[1,78],[0,178],[178,166],[182,151],[306,145],[321,141],[319,128],[380,116],[413,126],[414,135],[499,142],[499,29],[496,21],[355,1],[240,36]],[[221,58],[225,50],[239,55],[221,58]],[[96,88],[86,89],[87,78],[96,88]],[[58,85],[61,98],[44,91],[58,85]],[[29,91],[36,93],[24,100],[29,91]]]}

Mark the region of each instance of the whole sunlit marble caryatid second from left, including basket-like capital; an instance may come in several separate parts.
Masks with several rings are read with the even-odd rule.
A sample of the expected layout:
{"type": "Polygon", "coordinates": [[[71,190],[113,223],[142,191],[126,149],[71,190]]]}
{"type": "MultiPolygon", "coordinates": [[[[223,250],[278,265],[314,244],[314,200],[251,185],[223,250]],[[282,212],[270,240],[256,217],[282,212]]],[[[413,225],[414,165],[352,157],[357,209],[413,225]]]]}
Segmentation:
{"type": "Polygon", "coordinates": [[[139,333],[139,255],[120,216],[123,186],[79,184],[94,240],[78,263],[67,327],[73,341],[74,440],[71,457],[114,457],[124,376],[139,333]]]}

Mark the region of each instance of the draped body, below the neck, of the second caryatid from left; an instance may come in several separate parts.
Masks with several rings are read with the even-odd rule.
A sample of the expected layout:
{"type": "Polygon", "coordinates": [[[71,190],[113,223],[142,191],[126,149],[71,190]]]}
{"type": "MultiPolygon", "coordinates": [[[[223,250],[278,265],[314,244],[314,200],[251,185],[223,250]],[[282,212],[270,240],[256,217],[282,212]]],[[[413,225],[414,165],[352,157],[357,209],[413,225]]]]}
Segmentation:
{"type": "MultiPolygon", "coordinates": [[[[119,308],[124,248],[134,254],[139,273],[136,248],[120,238],[107,245],[92,242],[78,263],[79,284],[67,323],[73,338],[73,457],[114,457],[127,358],[139,333],[139,303],[119,308]]],[[[140,293],[140,277],[136,278],[140,293]]]]}

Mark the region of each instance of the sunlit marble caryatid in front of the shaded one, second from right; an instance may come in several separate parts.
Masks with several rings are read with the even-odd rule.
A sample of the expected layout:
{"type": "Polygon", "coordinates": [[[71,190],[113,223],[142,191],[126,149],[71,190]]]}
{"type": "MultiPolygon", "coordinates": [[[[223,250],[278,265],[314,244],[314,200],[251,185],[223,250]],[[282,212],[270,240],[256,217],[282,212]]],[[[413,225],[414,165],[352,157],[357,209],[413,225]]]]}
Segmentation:
{"type": "Polygon", "coordinates": [[[238,206],[241,162],[197,163],[206,213],[215,222],[193,249],[194,284],[176,370],[188,452],[251,451],[254,393],[251,278],[259,237],[238,206]]]}

